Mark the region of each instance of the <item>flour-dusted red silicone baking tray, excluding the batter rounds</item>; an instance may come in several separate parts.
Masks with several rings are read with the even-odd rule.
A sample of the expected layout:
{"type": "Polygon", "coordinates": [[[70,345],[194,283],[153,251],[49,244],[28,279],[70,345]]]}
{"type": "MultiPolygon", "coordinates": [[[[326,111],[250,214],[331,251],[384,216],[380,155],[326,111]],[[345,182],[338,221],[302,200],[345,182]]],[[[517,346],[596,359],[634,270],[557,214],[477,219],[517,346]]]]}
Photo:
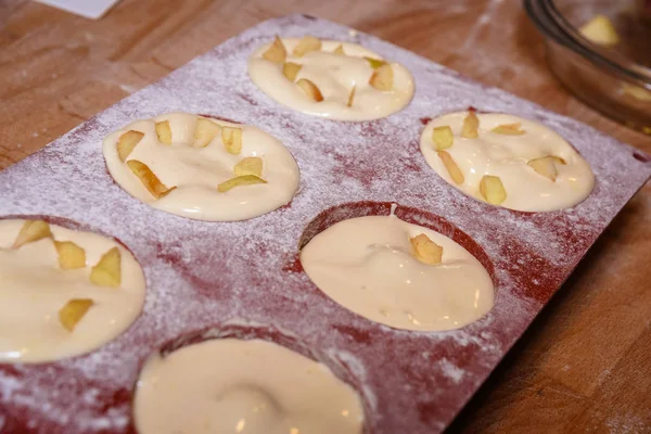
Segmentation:
{"type": "Polygon", "coordinates": [[[443,431],[650,176],[639,151],[374,37],[305,15],[265,22],[0,173],[0,217],[60,217],[116,237],[148,283],[142,315],[100,349],[0,365],[0,432],[132,432],[132,390],[146,356],[222,335],[263,336],[329,365],[363,397],[367,432],[443,431]],[[359,42],[400,62],[416,79],[413,101],[362,123],[285,108],[246,73],[251,52],[277,34],[359,42]],[[448,186],[420,153],[420,133],[429,117],[469,106],[558,131],[590,163],[590,196],[571,209],[531,214],[448,186]],[[102,139],[173,111],[234,119],[280,139],[301,167],[292,203],[247,221],[205,222],[132,199],[107,174],[102,139]],[[400,218],[451,237],[486,266],[496,288],[487,316],[456,331],[398,331],[346,310],[311,283],[299,244],[335,221],[387,215],[393,203],[400,218]]]}

